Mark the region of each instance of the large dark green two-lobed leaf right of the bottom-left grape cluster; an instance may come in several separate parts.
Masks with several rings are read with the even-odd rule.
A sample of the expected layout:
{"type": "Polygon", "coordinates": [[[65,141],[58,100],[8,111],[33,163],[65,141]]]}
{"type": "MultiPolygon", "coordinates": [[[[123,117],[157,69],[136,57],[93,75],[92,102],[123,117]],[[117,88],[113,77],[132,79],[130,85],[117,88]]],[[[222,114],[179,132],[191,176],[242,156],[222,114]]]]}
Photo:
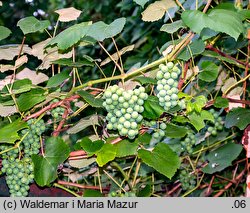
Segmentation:
{"type": "Polygon", "coordinates": [[[69,146],[59,137],[45,141],[44,156],[32,155],[35,181],[39,186],[48,186],[57,178],[57,168],[69,156],[69,146]]]}

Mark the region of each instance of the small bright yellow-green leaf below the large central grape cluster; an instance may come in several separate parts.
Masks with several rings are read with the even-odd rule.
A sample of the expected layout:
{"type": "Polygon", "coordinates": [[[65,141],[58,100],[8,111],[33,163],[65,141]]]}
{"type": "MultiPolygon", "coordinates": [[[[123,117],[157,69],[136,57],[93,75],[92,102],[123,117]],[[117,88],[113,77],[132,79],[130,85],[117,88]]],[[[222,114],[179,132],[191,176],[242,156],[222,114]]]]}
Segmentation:
{"type": "Polygon", "coordinates": [[[110,143],[106,143],[96,155],[96,162],[100,167],[103,167],[105,164],[115,159],[116,147],[110,143]]]}

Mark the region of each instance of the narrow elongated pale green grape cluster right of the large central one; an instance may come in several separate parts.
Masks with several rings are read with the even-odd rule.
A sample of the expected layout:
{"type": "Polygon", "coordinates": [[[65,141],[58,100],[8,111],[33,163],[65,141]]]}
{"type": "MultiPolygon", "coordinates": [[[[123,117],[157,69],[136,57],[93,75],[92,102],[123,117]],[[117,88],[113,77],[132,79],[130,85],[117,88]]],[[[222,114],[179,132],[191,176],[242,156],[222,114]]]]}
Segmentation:
{"type": "MultiPolygon", "coordinates": [[[[183,105],[183,102],[178,101],[178,76],[181,73],[180,69],[168,62],[166,65],[160,64],[160,70],[156,74],[157,79],[157,97],[159,104],[169,111],[171,108],[177,106],[179,103],[183,105]]],[[[181,106],[183,107],[183,106],[181,106]]]]}

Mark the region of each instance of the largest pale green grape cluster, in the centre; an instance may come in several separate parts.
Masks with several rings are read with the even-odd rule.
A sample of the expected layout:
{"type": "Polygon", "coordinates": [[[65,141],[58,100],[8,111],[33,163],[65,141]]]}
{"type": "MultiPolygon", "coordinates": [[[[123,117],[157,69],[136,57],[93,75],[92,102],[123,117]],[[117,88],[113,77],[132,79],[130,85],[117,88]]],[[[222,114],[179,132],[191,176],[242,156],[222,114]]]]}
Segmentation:
{"type": "Polygon", "coordinates": [[[117,85],[110,86],[104,92],[103,106],[108,114],[107,128],[118,130],[121,136],[128,136],[134,139],[139,132],[139,124],[143,117],[144,101],[148,98],[144,87],[134,90],[124,90],[117,85]]]}

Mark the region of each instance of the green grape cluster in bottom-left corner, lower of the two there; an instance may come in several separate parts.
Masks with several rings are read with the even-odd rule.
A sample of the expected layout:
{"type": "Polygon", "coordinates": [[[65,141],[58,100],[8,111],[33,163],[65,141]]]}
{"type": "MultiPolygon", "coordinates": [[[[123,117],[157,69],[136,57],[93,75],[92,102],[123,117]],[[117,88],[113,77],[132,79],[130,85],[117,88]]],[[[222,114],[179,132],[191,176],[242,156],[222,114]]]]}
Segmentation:
{"type": "Polygon", "coordinates": [[[19,160],[14,157],[2,161],[2,172],[6,173],[6,183],[12,197],[26,197],[29,184],[34,179],[34,166],[31,158],[19,160]]]}

